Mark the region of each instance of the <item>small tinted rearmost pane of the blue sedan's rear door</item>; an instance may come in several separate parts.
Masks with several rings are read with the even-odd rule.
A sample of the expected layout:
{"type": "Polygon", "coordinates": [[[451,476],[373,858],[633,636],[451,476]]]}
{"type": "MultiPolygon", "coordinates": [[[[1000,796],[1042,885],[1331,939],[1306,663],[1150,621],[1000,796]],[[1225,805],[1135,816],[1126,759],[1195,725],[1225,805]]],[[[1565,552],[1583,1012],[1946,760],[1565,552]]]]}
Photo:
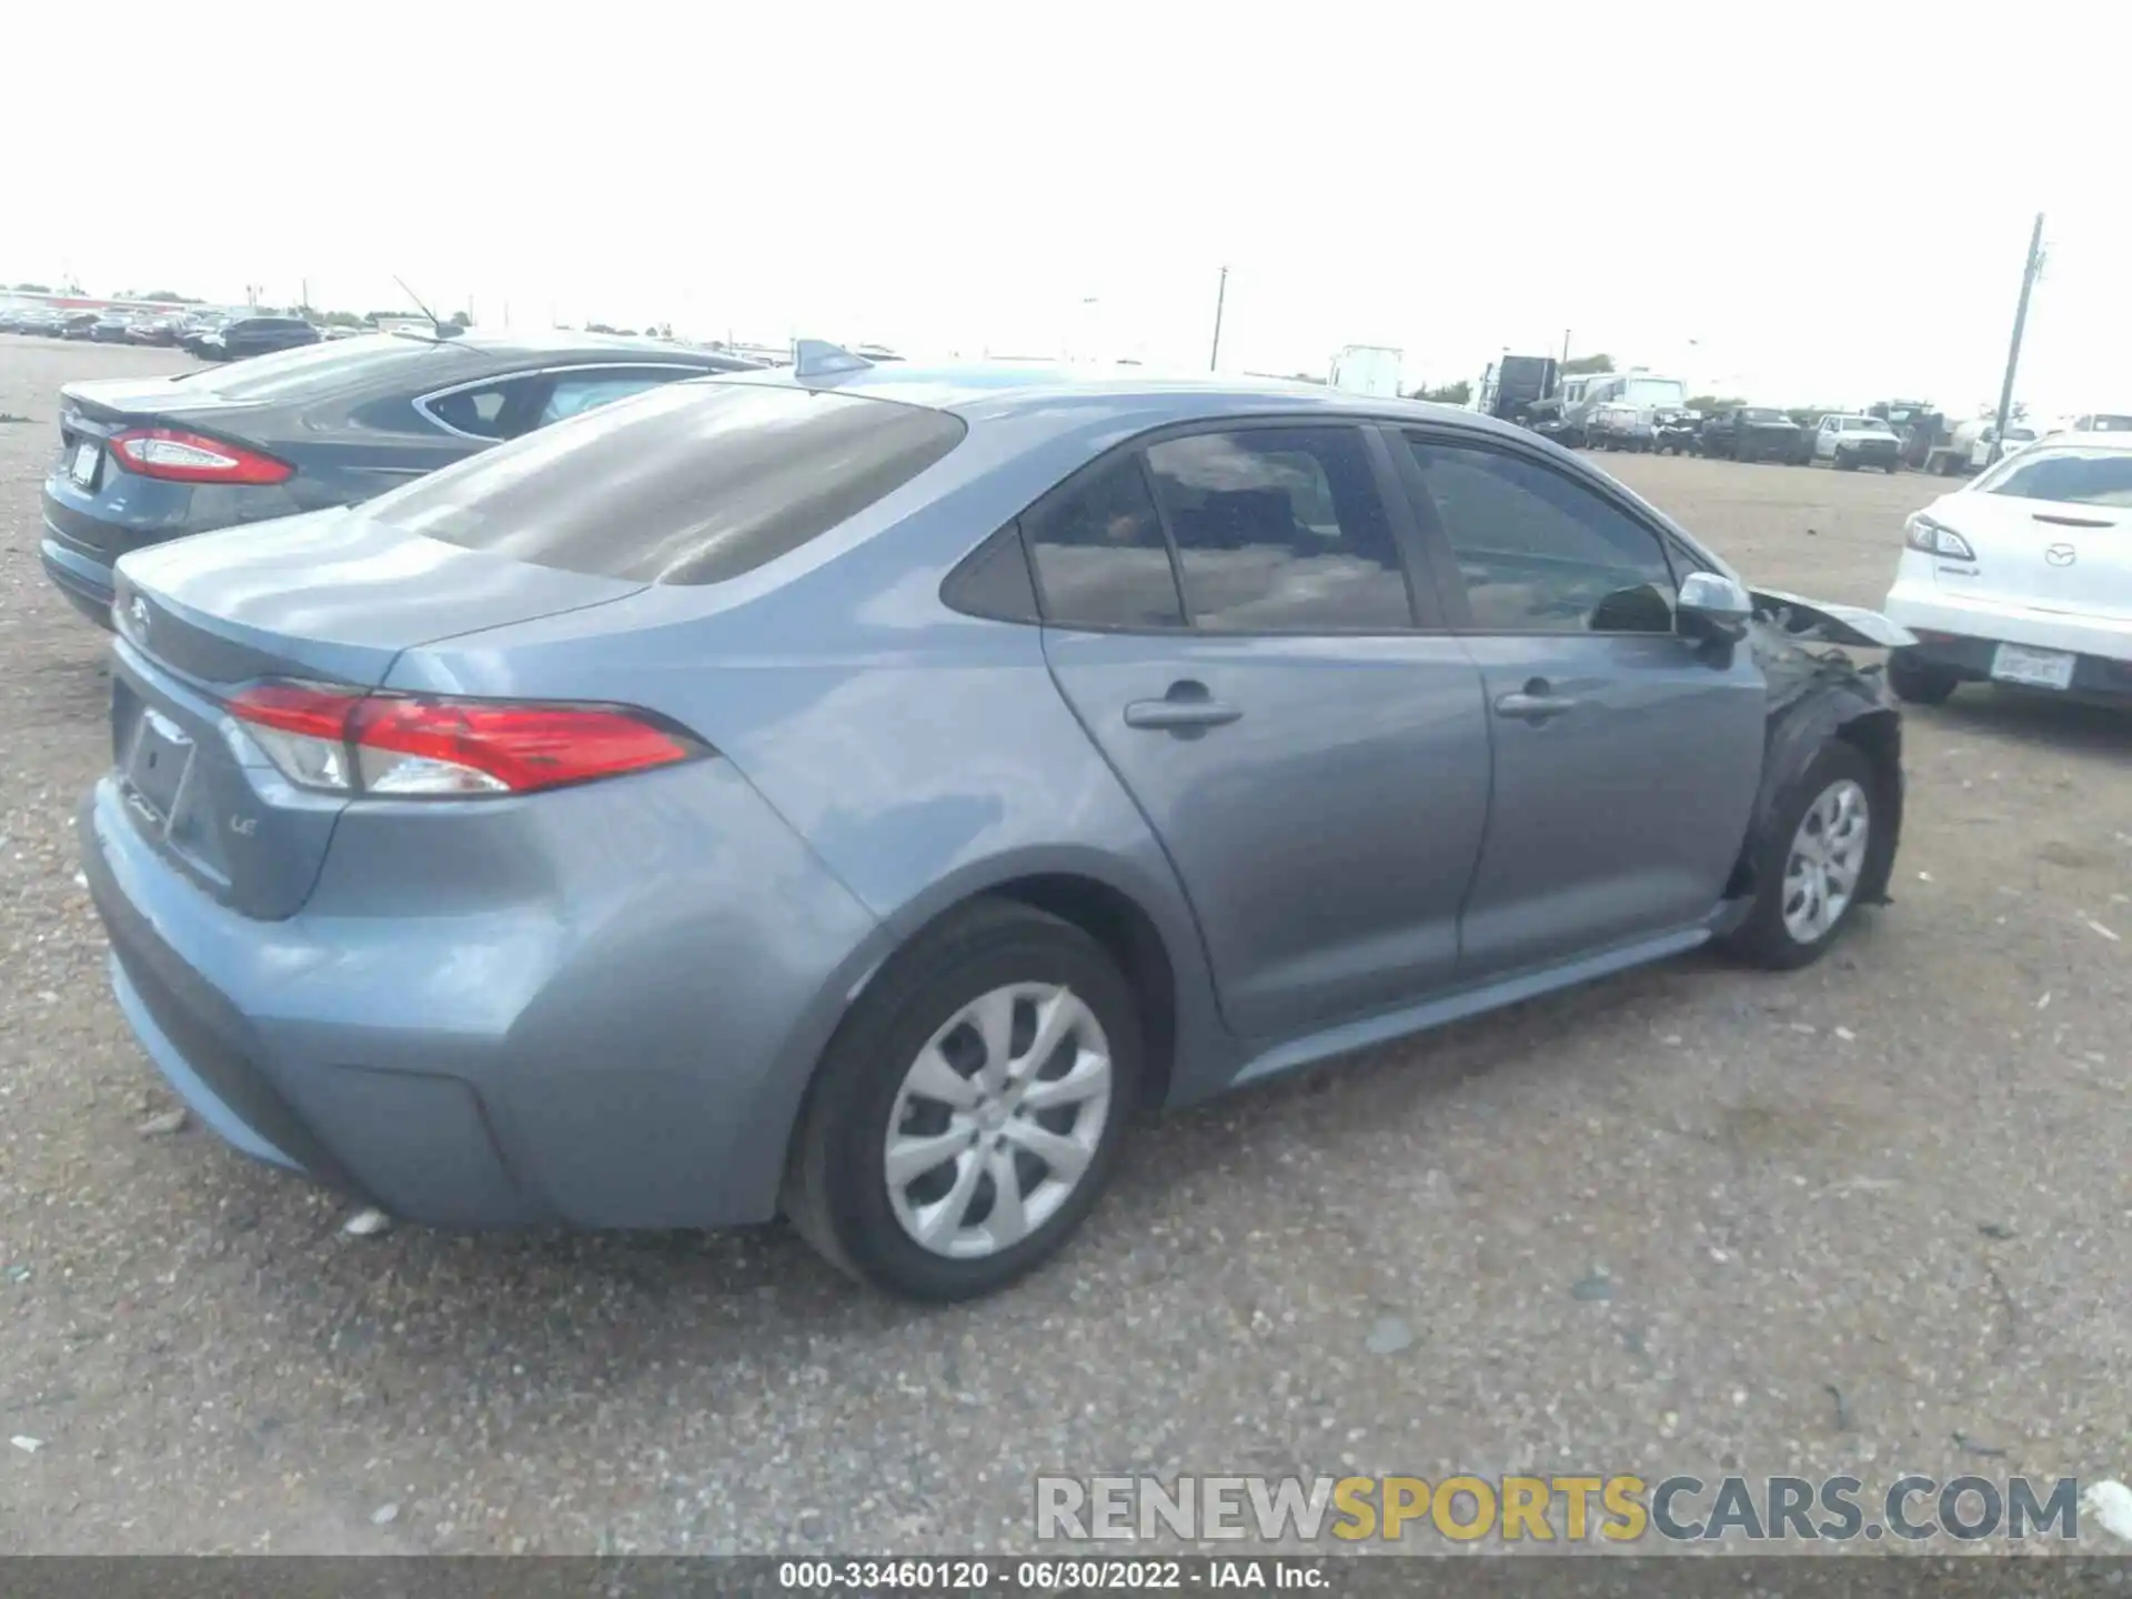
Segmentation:
{"type": "Polygon", "coordinates": [[[1060,627],[1181,627],[1177,576],[1138,456],[1111,461],[1023,518],[1045,620],[1060,627]]]}

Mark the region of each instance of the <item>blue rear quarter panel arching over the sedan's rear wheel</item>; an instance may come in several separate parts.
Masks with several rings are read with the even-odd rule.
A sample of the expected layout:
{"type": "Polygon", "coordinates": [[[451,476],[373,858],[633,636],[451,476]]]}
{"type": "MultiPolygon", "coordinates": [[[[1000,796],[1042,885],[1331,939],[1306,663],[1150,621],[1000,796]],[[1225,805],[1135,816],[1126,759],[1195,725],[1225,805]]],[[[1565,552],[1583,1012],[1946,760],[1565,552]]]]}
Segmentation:
{"type": "Polygon", "coordinates": [[[795,1019],[787,1081],[812,1075],[823,1023],[893,947],[987,889],[1072,874],[1128,895],[1160,934],[1177,991],[1170,1096],[1194,1098],[1237,1055],[1162,846],[1060,697],[1040,631],[938,595],[998,524],[994,492],[1013,514],[1053,480],[1038,469],[1025,497],[898,490],[789,561],[429,644],[388,687],[648,706],[716,746],[885,927],[857,981],[838,972],[795,1019]]]}

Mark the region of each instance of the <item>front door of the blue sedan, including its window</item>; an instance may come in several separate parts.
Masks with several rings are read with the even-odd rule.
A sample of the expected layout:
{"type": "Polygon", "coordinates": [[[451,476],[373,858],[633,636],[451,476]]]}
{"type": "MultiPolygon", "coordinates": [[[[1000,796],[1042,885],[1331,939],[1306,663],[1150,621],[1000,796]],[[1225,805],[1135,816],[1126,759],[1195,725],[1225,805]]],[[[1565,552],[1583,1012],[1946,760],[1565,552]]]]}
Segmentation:
{"type": "Polygon", "coordinates": [[[1509,443],[1403,441],[1495,736],[1460,974],[1703,921],[1761,780],[1767,695],[1750,652],[1716,661],[1674,633],[1667,539],[1629,501],[1509,443]]]}

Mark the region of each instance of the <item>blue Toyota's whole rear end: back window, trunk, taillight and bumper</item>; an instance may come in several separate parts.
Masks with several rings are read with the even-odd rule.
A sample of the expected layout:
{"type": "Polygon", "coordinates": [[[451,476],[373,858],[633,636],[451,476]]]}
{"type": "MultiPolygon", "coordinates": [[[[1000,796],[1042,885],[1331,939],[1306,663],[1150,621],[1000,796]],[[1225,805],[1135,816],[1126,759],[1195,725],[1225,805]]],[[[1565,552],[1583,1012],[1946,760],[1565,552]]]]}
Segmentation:
{"type": "Polygon", "coordinates": [[[761,1128],[878,925],[718,750],[765,680],[706,699],[706,640],[962,422],[733,390],[119,563],[85,870],[228,1143],[439,1224],[774,1211],[761,1128]]]}

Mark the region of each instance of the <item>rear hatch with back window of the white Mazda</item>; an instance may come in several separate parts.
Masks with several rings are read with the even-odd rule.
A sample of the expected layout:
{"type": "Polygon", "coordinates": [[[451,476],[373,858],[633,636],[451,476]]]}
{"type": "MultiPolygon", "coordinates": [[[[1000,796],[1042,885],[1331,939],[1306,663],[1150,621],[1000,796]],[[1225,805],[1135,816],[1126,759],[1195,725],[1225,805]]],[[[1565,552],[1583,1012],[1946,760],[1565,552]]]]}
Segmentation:
{"type": "Polygon", "coordinates": [[[2132,448],[2036,446],[1947,501],[1976,550],[1968,595],[2132,620],[2132,448]]]}

